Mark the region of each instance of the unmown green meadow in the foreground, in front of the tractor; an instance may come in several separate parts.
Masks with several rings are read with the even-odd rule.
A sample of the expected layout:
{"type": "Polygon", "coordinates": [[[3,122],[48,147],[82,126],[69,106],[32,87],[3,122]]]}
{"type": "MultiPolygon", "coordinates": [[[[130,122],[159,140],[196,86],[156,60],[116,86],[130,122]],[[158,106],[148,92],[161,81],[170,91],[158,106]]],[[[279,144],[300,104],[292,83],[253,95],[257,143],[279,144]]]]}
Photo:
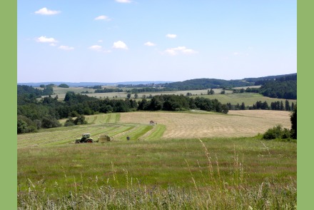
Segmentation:
{"type": "Polygon", "coordinates": [[[257,137],[18,147],[18,206],[296,209],[296,147],[257,137]]]}

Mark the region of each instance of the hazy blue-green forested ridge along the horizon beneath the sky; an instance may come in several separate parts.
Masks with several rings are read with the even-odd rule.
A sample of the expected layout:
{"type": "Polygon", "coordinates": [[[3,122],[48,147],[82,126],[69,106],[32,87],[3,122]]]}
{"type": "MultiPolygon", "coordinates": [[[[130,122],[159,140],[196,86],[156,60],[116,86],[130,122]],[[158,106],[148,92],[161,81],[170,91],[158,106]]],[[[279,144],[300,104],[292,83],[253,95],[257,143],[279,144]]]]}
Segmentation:
{"type": "MultiPolygon", "coordinates": [[[[52,81],[52,82],[38,82],[38,83],[18,83],[18,85],[27,85],[27,86],[40,86],[41,84],[55,84],[59,86],[60,84],[67,84],[69,86],[118,86],[118,87],[143,87],[149,86],[151,84],[158,84],[161,87],[168,87],[172,89],[211,89],[211,88],[224,88],[224,87],[238,87],[238,86],[253,86],[260,85],[255,84],[257,81],[268,81],[278,79],[280,77],[288,77],[295,76],[294,74],[282,74],[276,76],[263,76],[256,78],[244,78],[244,79],[235,79],[235,80],[224,80],[224,79],[190,79],[186,81],[124,81],[124,82],[116,82],[116,83],[108,83],[108,82],[65,82],[65,81],[52,81]],[[193,87],[192,87],[193,86],[193,87]]],[[[295,79],[296,80],[296,79],[295,79]]]]}

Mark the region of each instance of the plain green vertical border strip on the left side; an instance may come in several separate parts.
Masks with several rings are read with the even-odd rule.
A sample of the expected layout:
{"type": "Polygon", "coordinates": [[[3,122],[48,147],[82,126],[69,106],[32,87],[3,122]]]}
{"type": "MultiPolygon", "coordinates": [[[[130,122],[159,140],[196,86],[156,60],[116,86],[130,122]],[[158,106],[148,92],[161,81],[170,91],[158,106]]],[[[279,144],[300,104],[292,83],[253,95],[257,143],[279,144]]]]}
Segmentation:
{"type": "Polygon", "coordinates": [[[16,79],[17,1],[0,1],[1,151],[0,206],[17,209],[16,79]]]}

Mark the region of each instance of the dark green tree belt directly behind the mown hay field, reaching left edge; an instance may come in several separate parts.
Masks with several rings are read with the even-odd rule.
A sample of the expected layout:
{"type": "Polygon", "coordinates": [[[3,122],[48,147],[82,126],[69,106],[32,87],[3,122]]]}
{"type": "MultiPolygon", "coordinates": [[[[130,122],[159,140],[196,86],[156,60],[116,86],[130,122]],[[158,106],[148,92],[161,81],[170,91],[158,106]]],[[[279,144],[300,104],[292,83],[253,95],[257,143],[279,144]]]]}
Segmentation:
{"type": "Polygon", "coordinates": [[[66,93],[64,101],[59,101],[58,96],[51,97],[49,95],[38,100],[29,94],[22,95],[24,95],[24,98],[18,101],[17,106],[18,134],[61,126],[59,119],[67,118],[66,126],[84,124],[86,121],[83,115],[98,113],[137,110],[183,111],[188,109],[228,113],[226,104],[221,104],[216,99],[189,99],[183,95],[153,96],[151,101],[142,99],[138,102],[135,99],[96,99],[83,94],[75,94],[73,91],[66,93]]]}

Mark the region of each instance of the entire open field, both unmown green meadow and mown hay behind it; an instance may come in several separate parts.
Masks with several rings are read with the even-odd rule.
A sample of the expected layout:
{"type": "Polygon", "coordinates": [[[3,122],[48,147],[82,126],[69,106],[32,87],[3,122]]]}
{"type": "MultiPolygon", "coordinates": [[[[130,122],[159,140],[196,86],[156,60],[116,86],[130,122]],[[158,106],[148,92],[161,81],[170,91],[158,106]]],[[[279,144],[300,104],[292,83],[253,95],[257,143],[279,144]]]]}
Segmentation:
{"type": "Polygon", "coordinates": [[[288,111],[143,111],[86,119],[86,125],[17,136],[18,206],[296,206],[297,145],[256,136],[279,123],[289,128],[288,111]],[[113,141],[74,144],[85,132],[113,141]]]}

